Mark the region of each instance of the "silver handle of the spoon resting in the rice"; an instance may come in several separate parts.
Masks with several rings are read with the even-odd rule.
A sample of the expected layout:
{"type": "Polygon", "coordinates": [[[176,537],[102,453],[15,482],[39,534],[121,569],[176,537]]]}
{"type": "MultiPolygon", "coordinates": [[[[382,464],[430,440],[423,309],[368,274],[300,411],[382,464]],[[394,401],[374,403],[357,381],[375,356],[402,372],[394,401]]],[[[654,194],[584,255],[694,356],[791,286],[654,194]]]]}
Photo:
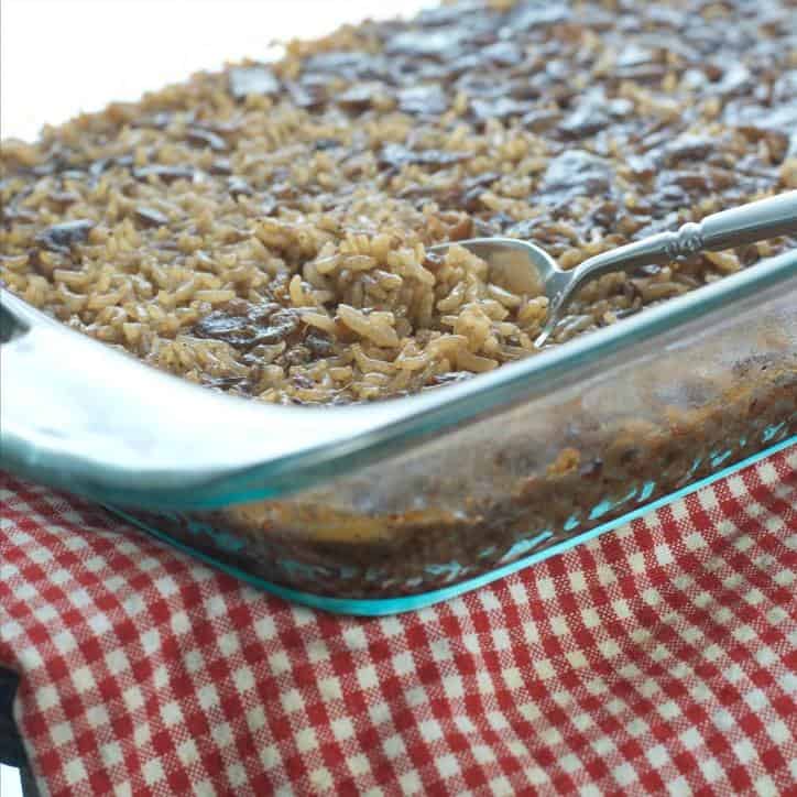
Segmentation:
{"type": "Polygon", "coordinates": [[[572,281],[557,302],[561,309],[588,280],[612,271],[664,265],[703,251],[742,247],[777,236],[797,234],[797,190],[741,205],[687,222],[675,232],[660,232],[590,258],[572,271],[572,281]]]}

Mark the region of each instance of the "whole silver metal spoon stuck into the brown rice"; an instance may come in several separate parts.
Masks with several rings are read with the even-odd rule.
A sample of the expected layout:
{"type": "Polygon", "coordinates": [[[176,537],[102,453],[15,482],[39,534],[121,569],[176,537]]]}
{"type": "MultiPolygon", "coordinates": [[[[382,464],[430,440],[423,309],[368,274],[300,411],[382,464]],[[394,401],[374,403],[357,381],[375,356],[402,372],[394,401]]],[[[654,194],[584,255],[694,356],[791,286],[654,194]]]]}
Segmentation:
{"type": "MultiPolygon", "coordinates": [[[[689,221],[674,232],[659,232],[586,260],[564,271],[543,249],[513,238],[473,238],[457,241],[487,261],[491,281],[516,294],[548,297],[548,320],[535,346],[550,337],[563,310],[579,288],[613,271],[634,271],[643,265],[664,265],[703,251],[720,251],[755,243],[778,236],[797,234],[797,190],[741,205],[707,216],[699,223],[689,221]]],[[[433,247],[445,253],[448,244],[433,247]]]]}

